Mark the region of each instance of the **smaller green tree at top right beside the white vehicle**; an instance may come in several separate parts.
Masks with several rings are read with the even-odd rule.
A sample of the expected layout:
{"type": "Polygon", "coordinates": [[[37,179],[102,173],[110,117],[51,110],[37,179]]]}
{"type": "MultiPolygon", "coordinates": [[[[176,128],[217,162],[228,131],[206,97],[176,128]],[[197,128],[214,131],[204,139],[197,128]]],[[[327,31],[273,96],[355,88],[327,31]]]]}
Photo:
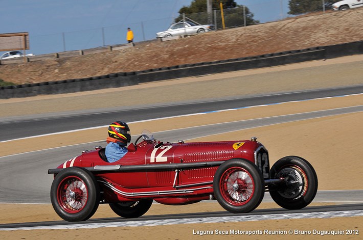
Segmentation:
{"type": "MultiPolygon", "coordinates": [[[[329,9],[333,3],[339,2],[341,0],[324,0],[325,8],[329,9]]],[[[323,11],[323,1],[322,0],[289,0],[288,14],[298,15],[302,13],[323,11]]]]}

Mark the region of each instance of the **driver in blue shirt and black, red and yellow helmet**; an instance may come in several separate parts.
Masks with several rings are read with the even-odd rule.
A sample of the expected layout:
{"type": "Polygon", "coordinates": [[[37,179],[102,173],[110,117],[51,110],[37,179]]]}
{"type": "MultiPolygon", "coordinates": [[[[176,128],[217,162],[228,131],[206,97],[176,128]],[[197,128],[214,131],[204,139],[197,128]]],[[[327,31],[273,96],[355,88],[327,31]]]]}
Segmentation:
{"type": "Polygon", "coordinates": [[[109,163],[114,163],[127,153],[126,145],[131,140],[130,128],[125,122],[112,122],[108,126],[108,136],[106,157],[109,163]]]}

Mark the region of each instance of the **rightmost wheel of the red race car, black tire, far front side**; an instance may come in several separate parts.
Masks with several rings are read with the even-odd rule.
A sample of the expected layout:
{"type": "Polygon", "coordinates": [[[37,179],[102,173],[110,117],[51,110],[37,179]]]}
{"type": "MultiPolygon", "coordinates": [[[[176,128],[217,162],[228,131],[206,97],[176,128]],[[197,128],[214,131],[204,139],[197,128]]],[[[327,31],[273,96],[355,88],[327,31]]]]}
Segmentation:
{"type": "Polygon", "coordinates": [[[285,156],[277,161],[270,170],[271,179],[288,178],[288,182],[269,193],[271,198],[283,208],[301,209],[310,204],[317,191],[317,176],[311,164],[299,156],[285,156]]]}

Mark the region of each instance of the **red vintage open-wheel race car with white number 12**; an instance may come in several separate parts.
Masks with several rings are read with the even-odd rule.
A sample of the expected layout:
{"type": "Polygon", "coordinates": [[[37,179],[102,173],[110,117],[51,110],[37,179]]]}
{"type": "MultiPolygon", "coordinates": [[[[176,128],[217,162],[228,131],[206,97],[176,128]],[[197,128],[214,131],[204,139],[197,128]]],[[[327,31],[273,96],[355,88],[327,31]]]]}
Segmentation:
{"type": "Polygon", "coordinates": [[[144,130],[116,163],[108,163],[105,148],[96,147],[49,169],[52,205],[66,221],[89,219],[100,203],[124,218],[144,215],[152,201],[217,199],[226,210],[243,213],[254,210],[265,191],[281,207],[307,206],[317,191],[312,166],[286,156],[269,169],[268,152],[256,139],[163,143],[144,130]]]}

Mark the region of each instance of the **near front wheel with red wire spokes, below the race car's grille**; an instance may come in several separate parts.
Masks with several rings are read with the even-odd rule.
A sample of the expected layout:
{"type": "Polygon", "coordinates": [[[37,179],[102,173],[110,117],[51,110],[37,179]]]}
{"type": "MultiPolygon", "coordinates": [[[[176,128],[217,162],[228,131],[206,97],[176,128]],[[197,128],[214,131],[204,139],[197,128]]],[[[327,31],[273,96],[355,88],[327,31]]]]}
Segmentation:
{"type": "Polygon", "coordinates": [[[260,205],[264,180],[257,166],[246,159],[230,159],[216,171],[214,196],[226,210],[235,214],[249,212],[260,205]]]}

